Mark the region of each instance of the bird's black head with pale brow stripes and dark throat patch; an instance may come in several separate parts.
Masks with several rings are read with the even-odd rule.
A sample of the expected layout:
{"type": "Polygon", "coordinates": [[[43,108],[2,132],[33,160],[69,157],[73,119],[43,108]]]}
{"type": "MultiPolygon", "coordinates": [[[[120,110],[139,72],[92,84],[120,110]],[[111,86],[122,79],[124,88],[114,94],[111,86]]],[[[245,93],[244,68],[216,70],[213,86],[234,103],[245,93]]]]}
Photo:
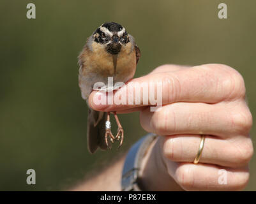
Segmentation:
{"type": "Polygon", "coordinates": [[[130,42],[130,38],[122,25],[107,22],[94,31],[93,41],[103,45],[109,54],[116,55],[126,43],[130,42]]]}

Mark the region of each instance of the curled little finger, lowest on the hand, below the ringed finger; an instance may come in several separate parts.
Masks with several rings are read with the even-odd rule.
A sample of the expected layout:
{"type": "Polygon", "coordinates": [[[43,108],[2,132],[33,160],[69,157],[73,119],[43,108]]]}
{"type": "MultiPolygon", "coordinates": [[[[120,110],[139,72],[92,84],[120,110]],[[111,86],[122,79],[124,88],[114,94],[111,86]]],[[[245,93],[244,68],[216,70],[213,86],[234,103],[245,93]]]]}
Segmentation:
{"type": "Polygon", "coordinates": [[[247,167],[234,170],[210,164],[166,164],[170,176],[186,191],[239,191],[249,180],[247,167]]]}

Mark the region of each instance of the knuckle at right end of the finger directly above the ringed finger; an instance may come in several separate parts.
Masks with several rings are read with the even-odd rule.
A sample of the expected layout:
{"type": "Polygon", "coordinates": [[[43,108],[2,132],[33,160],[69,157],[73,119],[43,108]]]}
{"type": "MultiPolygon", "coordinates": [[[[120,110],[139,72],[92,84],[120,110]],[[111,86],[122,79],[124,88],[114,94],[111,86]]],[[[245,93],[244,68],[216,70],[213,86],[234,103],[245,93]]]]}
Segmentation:
{"type": "Polygon", "coordinates": [[[232,128],[241,135],[246,135],[253,124],[252,113],[246,109],[231,114],[232,128]]]}

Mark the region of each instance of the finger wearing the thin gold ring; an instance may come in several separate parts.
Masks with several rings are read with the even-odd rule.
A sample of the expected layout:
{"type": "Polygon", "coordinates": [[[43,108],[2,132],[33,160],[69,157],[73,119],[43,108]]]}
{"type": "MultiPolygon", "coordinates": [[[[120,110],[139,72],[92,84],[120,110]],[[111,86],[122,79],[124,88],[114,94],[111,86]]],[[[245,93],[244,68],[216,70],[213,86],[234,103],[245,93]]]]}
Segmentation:
{"type": "MultiPolygon", "coordinates": [[[[201,136],[174,135],[160,139],[164,157],[171,161],[193,162],[199,151],[201,136]]],[[[246,166],[252,155],[252,141],[248,137],[237,136],[234,140],[221,140],[206,135],[199,163],[239,168],[246,166]]]]}

